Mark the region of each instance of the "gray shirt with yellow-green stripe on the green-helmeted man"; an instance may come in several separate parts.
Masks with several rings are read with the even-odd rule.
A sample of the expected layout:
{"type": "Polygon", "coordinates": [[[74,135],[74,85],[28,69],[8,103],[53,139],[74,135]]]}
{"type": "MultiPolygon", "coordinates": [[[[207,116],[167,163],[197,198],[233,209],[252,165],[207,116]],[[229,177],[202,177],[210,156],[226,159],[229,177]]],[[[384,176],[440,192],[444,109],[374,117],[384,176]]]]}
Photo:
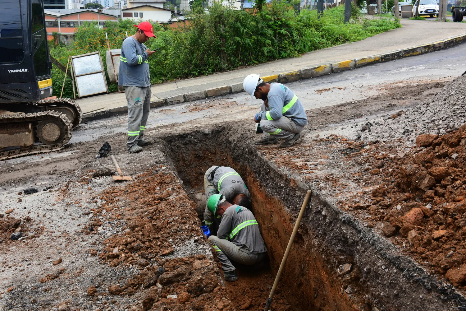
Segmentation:
{"type": "Polygon", "coordinates": [[[227,238],[248,254],[267,252],[267,247],[260,235],[259,225],[253,213],[246,207],[232,205],[226,209],[217,237],[227,238]]]}

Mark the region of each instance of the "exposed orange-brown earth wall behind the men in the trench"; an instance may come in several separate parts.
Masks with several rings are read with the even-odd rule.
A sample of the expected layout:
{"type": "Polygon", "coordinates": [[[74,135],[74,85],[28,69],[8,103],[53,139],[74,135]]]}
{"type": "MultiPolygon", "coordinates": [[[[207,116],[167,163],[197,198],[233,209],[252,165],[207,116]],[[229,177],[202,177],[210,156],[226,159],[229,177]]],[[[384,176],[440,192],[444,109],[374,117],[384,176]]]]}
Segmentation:
{"type": "MultiPolygon", "coordinates": [[[[275,274],[293,231],[295,215],[287,212],[288,208],[281,203],[281,200],[267,194],[264,184],[257,180],[253,169],[247,165],[249,161],[234,159],[226,143],[219,144],[219,141],[212,140],[216,135],[217,133],[212,133],[210,136],[191,133],[168,138],[170,149],[166,152],[174,160],[174,167],[180,178],[188,187],[194,189],[203,189],[204,173],[212,165],[232,166],[241,174],[251,193],[252,209],[267,244],[270,265],[275,274]],[[206,141],[209,143],[206,144],[206,141]],[[204,147],[197,149],[196,145],[204,147]]],[[[254,166],[259,164],[254,160],[251,163],[254,166]]],[[[270,184],[274,184],[275,180],[278,180],[283,187],[289,185],[287,178],[276,176],[277,173],[270,171],[264,164],[261,163],[262,167],[258,168],[257,172],[265,177],[266,185],[269,181],[270,184]],[[270,175],[270,180],[267,175],[270,175]]],[[[303,198],[303,189],[295,187],[282,200],[295,202],[292,206],[297,212],[303,198]]],[[[301,234],[302,232],[295,239],[281,279],[282,291],[288,302],[295,310],[352,310],[348,299],[340,290],[341,286],[335,286],[333,276],[327,270],[323,258],[318,253],[303,252],[306,242],[301,234]]]]}

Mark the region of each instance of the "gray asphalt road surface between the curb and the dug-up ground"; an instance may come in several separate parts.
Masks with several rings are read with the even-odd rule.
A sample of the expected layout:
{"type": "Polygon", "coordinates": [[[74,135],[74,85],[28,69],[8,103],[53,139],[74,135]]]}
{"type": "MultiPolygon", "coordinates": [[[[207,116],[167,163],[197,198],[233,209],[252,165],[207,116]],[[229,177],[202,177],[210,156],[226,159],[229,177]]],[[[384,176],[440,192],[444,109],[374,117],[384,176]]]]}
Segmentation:
{"type": "MultiPolygon", "coordinates": [[[[306,110],[375,95],[383,96],[383,89],[390,85],[409,85],[459,76],[466,70],[465,48],[466,43],[462,43],[428,54],[296,81],[287,86],[300,98],[306,110]]],[[[212,118],[234,122],[252,118],[260,103],[260,100],[251,100],[246,93],[241,92],[209,101],[161,107],[152,110],[147,128],[151,130],[167,124],[195,127],[211,123],[212,118]]],[[[70,143],[126,132],[126,122],[126,116],[119,116],[82,124],[73,132],[70,143]]]]}

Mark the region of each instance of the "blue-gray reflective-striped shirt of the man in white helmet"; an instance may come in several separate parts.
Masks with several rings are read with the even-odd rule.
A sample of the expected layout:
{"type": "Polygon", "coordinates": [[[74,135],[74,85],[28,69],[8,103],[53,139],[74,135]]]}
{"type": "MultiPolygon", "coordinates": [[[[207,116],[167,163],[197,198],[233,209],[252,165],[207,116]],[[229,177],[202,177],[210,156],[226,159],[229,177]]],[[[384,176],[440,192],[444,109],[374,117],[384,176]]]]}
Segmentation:
{"type": "Polygon", "coordinates": [[[259,111],[257,117],[260,120],[279,120],[281,116],[285,116],[298,125],[308,124],[308,117],[301,101],[285,85],[271,83],[267,100],[269,111],[259,111]]]}

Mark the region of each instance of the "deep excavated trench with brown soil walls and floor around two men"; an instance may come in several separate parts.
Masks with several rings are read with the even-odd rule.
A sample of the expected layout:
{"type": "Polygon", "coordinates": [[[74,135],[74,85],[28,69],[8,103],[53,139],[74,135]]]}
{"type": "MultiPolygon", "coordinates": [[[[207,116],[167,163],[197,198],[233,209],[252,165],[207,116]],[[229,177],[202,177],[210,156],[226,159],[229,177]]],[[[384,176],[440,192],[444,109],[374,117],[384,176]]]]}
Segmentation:
{"type": "MultiPolygon", "coordinates": [[[[254,301],[259,298],[254,297],[256,283],[267,283],[268,286],[261,295],[265,302],[304,199],[305,189],[293,185],[292,181],[290,184],[286,176],[278,176],[278,172],[260,159],[257,153],[254,154],[252,149],[246,152],[246,144],[239,151],[231,141],[225,139],[222,131],[209,134],[192,132],[165,140],[168,143],[165,152],[173,161],[172,165],[183,181],[186,193],[194,202],[199,200],[196,194],[204,192],[204,173],[212,165],[231,166],[246,181],[252,197],[252,211],[267,244],[269,258],[268,263],[259,267],[237,267],[240,285],[238,286],[238,282],[227,285],[230,296],[233,296],[230,297],[232,301],[239,297],[243,301],[254,301]]],[[[202,218],[202,212],[203,208],[198,204],[199,218],[202,218]]],[[[303,227],[295,238],[281,278],[279,296],[275,297],[271,309],[352,310],[341,286],[335,283],[333,273],[328,270],[322,254],[314,250],[305,251],[309,241],[306,242],[302,235],[309,233],[308,228],[303,227]]],[[[249,308],[244,308],[245,306],[247,307],[238,303],[237,309],[263,310],[264,307],[263,304],[255,307],[251,305],[249,308]]]]}

